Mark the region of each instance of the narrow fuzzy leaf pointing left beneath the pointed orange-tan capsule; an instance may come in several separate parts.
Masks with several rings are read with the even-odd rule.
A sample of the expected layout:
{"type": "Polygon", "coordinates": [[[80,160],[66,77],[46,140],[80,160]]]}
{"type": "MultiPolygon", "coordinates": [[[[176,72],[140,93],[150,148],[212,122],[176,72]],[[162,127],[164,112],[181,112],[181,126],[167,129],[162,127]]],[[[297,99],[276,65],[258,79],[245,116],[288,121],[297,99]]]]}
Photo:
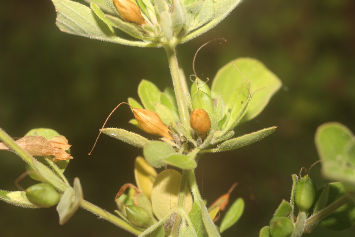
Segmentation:
{"type": "Polygon", "coordinates": [[[149,142],[148,139],[144,138],[143,136],[132,133],[130,131],[121,129],[121,128],[104,128],[101,129],[102,133],[109,135],[113,138],[118,140],[124,141],[130,145],[143,148],[144,145],[149,142]]]}

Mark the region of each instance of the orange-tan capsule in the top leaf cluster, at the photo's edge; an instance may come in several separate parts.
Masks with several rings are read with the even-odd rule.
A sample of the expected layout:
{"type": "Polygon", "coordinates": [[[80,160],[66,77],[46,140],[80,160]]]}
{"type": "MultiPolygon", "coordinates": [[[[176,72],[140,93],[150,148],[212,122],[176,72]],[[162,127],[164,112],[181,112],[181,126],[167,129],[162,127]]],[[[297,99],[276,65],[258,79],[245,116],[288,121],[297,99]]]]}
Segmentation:
{"type": "Polygon", "coordinates": [[[138,25],[146,23],[141,14],[141,10],[137,4],[131,0],[113,0],[113,4],[123,20],[137,23],[138,25]]]}

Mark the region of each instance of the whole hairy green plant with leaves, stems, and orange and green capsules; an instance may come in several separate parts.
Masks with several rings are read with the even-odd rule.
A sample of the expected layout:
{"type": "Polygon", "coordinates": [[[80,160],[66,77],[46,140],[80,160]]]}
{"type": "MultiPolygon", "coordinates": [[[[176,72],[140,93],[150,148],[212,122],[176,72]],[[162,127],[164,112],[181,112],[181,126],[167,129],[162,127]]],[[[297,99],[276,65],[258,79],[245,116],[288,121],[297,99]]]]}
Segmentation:
{"type": "MultiPolygon", "coordinates": [[[[70,0],[52,2],[56,25],[63,32],[163,48],[173,85],[161,90],[142,80],[139,99],[130,97],[113,110],[130,106],[129,123],[140,128],[140,134],[122,128],[100,129],[99,134],[142,149],[142,156],[134,161],[135,184],[122,182],[112,197],[117,204],[114,213],[84,200],[79,178],[69,183],[64,171],[73,159],[71,145],[65,136],[47,128],[32,129],[16,141],[0,129],[0,149],[17,153],[26,162],[25,174],[38,181],[25,191],[0,190],[0,199],[23,208],[56,206],[61,225],[81,207],[136,236],[221,236],[240,219],[244,201],[238,198],[229,205],[236,183],[217,200],[204,200],[195,168],[204,153],[218,157],[219,152],[250,145],[275,131],[277,127],[272,126],[234,136],[237,125],[262,112],[281,81],[260,61],[237,58],[219,69],[210,87],[207,79],[196,74],[194,65],[194,74],[184,75],[176,46],[213,28],[241,0],[87,0],[89,6],[70,0]],[[126,38],[117,36],[119,31],[126,38]],[[148,140],[146,134],[156,138],[148,140]]],[[[323,176],[332,183],[317,189],[311,169],[302,168],[299,177],[292,175],[290,202],[282,201],[260,236],[301,236],[319,223],[332,230],[355,224],[354,135],[344,125],[324,124],[317,130],[316,146],[323,176]]]]}

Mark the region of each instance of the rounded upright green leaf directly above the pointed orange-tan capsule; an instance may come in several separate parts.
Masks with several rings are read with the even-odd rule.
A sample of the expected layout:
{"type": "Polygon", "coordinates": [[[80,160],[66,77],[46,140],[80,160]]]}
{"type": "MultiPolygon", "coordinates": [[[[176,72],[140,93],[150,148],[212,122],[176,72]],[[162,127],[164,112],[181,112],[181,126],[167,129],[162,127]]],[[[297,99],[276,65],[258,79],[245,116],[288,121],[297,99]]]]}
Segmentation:
{"type": "Polygon", "coordinates": [[[154,111],[154,104],[160,102],[160,91],[157,86],[147,80],[142,80],[138,85],[138,96],[144,108],[154,111]]]}

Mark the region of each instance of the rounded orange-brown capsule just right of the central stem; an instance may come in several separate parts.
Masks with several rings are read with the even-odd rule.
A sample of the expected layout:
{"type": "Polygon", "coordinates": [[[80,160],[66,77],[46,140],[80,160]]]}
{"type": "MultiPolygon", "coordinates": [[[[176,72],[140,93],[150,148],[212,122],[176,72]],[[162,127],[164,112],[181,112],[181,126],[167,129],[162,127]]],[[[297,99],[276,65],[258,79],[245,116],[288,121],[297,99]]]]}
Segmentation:
{"type": "Polygon", "coordinates": [[[190,114],[190,126],[197,134],[206,134],[211,128],[207,112],[204,109],[194,109],[190,114]]]}

